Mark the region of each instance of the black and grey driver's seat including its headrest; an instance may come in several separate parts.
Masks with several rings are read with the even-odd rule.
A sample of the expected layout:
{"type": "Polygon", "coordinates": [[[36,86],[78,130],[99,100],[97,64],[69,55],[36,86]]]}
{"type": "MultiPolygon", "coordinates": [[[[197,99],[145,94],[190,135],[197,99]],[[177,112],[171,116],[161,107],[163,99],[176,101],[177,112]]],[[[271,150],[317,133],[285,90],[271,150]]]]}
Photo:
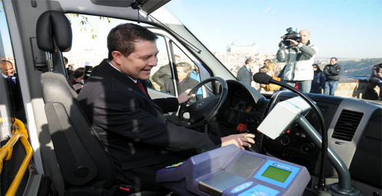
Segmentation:
{"type": "Polygon", "coordinates": [[[56,69],[63,71],[61,51],[71,48],[67,17],[62,12],[47,11],[38,18],[36,26],[38,48],[47,52],[52,63],[49,72],[41,74],[41,86],[65,195],[157,195],[128,185],[120,188],[113,161],[82,112],[76,91],[62,72],[54,73],[56,69]]]}

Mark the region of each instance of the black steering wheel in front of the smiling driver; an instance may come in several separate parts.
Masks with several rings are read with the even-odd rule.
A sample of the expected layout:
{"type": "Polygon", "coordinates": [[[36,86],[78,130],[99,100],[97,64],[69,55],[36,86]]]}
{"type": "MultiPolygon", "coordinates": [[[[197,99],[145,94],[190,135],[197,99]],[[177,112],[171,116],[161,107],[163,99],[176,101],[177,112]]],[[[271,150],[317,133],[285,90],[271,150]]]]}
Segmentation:
{"type": "Polygon", "coordinates": [[[193,129],[196,127],[201,127],[205,123],[212,121],[219,110],[222,108],[225,99],[228,95],[228,85],[227,82],[221,77],[210,77],[203,80],[197,84],[194,88],[191,89],[190,95],[195,93],[201,86],[207,84],[208,82],[219,82],[221,84],[221,93],[220,95],[214,95],[205,97],[204,99],[195,101],[187,106],[187,103],[182,103],[181,108],[179,109],[179,123],[186,128],[193,129]],[[183,114],[188,112],[190,114],[190,119],[185,119],[183,114]]]}

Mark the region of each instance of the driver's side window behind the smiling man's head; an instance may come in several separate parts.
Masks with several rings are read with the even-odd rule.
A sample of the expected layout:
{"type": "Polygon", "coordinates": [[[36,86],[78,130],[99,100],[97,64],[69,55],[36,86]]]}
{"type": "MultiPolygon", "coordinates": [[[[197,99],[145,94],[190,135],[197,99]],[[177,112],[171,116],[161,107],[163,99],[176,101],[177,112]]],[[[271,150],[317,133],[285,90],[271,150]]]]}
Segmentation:
{"type": "MultiPolygon", "coordinates": [[[[134,22],[122,19],[106,20],[104,17],[84,14],[80,14],[80,16],[77,16],[77,14],[67,14],[67,17],[71,21],[73,45],[70,51],[63,54],[67,59],[65,66],[71,80],[76,79],[74,77],[76,71],[85,69],[82,72],[85,72],[83,80],[86,83],[87,77],[91,72],[91,69],[87,68],[92,68],[98,65],[104,58],[107,58],[106,37],[110,30],[116,25],[134,22]]],[[[190,53],[185,52],[183,47],[179,47],[175,42],[172,42],[172,37],[167,32],[157,28],[148,28],[157,34],[157,48],[159,50],[157,55],[158,64],[151,70],[150,79],[145,81],[148,88],[178,96],[184,90],[196,86],[201,81],[201,78],[208,77],[209,73],[206,69],[190,58],[190,53]],[[179,63],[183,63],[182,67],[186,69],[177,69],[177,64],[179,63]],[[179,72],[180,69],[181,71],[179,72]],[[199,74],[199,69],[203,70],[201,75],[204,75],[202,77],[199,74]],[[183,73],[184,71],[186,71],[186,74],[183,73]]],[[[72,84],[82,87],[80,84],[76,84],[76,82],[72,82],[72,84]]],[[[201,89],[198,90],[197,96],[203,96],[201,89]]]]}

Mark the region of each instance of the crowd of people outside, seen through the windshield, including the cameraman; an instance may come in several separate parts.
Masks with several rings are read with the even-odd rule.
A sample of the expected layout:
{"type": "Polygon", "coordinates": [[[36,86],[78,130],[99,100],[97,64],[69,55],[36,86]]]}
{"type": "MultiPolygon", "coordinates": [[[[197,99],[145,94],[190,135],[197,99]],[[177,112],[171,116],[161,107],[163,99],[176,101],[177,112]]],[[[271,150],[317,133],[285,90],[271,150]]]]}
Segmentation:
{"type": "MultiPolygon", "coordinates": [[[[314,64],[315,55],[319,51],[318,47],[311,43],[311,34],[308,30],[300,31],[298,40],[282,40],[279,44],[276,57],[278,62],[285,62],[283,69],[277,75],[282,82],[302,90],[304,93],[319,93],[324,95],[335,95],[339,79],[343,68],[337,64],[337,58],[330,58],[329,64],[320,69],[318,64],[314,64]],[[289,41],[289,45],[285,45],[289,41]]],[[[274,77],[276,69],[271,60],[265,60],[264,66],[258,71],[253,71],[254,60],[247,58],[245,64],[238,70],[237,79],[245,84],[251,84],[254,73],[262,72],[274,77]]],[[[377,85],[382,85],[381,64],[376,64],[372,69],[371,81],[377,85]]],[[[380,88],[381,89],[381,88],[380,88]]],[[[266,88],[265,84],[260,84],[260,93],[273,93],[273,90],[266,88]]],[[[280,88],[280,90],[283,90],[280,88]]],[[[381,97],[381,93],[379,93],[381,97]]],[[[381,98],[379,98],[381,99],[381,98]]]]}

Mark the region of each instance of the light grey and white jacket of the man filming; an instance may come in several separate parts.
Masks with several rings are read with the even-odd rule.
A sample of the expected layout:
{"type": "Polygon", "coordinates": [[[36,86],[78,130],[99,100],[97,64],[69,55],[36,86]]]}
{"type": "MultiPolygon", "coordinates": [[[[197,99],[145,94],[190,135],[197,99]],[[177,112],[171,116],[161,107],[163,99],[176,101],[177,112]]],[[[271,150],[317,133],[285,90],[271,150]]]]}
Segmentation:
{"type": "Polygon", "coordinates": [[[313,62],[318,47],[311,44],[309,40],[306,45],[298,43],[297,46],[289,49],[279,49],[277,60],[287,62],[284,70],[284,80],[302,81],[313,79],[313,62]]]}

